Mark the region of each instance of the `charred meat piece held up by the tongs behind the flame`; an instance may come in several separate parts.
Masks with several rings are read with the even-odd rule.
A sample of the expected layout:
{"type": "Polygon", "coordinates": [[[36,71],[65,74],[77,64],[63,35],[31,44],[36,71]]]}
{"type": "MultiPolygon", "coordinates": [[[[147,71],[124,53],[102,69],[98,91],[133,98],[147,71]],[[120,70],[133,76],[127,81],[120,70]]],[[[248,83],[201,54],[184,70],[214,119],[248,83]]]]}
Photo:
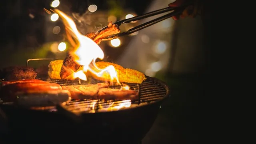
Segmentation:
{"type": "MultiPolygon", "coordinates": [[[[112,22],[110,22],[108,24],[108,28],[106,28],[105,30],[102,30],[99,33],[89,33],[86,36],[94,40],[94,42],[96,42],[97,44],[99,44],[101,42],[100,39],[106,38],[113,34],[118,34],[119,32],[120,29],[118,25],[112,24],[112,22]]],[[[76,70],[78,70],[79,68],[80,65],[74,61],[74,54],[69,53],[63,60],[62,68],[60,70],[60,78],[65,79],[66,77],[70,76],[70,74],[72,74],[73,72],[76,72],[76,70]]]]}

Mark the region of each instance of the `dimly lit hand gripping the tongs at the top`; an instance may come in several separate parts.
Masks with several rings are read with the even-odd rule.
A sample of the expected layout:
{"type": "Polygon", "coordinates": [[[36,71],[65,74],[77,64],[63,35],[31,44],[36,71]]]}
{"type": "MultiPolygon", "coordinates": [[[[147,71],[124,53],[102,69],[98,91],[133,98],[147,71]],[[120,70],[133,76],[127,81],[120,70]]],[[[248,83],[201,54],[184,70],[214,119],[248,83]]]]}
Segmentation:
{"type": "MultiPolygon", "coordinates": [[[[182,6],[184,4],[187,4],[188,2],[192,2],[192,3],[195,3],[196,0],[176,0],[175,2],[172,2],[169,4],[170,7],[179,7],[179,6],[182,6]]],[[[176,15],[176,16],[173,16],[172,18],[174,20],[178,20],[180,18],[185,18],[185,17],[195,17],[197,14],[197,10],[196,10],[196,6],[195,5],[190,5],[188,7],[186,7],[182,14],[179,14],[179,15],[176,15]]]]}

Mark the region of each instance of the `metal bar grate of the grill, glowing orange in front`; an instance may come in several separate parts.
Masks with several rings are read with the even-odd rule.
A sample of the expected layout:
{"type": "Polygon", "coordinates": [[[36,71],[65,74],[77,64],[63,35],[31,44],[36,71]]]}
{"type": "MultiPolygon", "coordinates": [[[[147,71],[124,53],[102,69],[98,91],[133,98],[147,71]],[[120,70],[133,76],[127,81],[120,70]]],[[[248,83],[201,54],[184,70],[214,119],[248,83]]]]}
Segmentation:
{"type": "MultiPolygon", "coordinates": [[[[46,79],[42,79],[46,80],[46,79]]],[[[88,81],[79,81],[79,80],[48,80],[48,82],[57,83],[60,85],[79,85],[79,84],[96,84],[98,80],[89,79],[88,81]]],[[[142,106],[145,104],[150,104],[155,102],[156,100],[160,100],[164,96],[166,96],[167,90],[162,84],[155,82],[152,78],[148,77],[146,81],[142,82],[142,84],[126,84],[130,86],[130,89],[136,90],[139,93],[139,99],[131,102],[130,107],[133,108],[137,106],[142,106]]],[[[110,86],[113,89],[120,89],[121,86],[110,86]]],[[[72,112],[87,112],[87,113],[95,113],[95,112],[104,112],[104,111],[115,111],[118,110],[116,108],[120,105],[128,104],[129,100],[73,100],[64,106],[67,110],[72,112]]],[[[124,108],[126,108],[124,106],[124,108]]],[[[127,109],[126,108],[126,109],[127,109]]]]}

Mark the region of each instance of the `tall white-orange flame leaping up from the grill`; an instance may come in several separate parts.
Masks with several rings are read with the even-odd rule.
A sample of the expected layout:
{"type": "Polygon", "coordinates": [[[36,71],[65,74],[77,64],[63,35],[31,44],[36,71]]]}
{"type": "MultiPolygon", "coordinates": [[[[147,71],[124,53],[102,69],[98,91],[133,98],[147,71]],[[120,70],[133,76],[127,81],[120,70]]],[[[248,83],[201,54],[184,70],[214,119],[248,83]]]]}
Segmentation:
{"type": "Polygon", "coordinates": [[[84,72],[87,71],[92,72],[98,77],[102,77],[103,74],[107,72],[110,75],[112,82],[116,79],[116,82],[120,84],[114,66],[108,66],[104,69],[100,69],[96,66],[95,60],[97,58],[101,60],[104,58],[104,53],[98,44],[96,44],[92,39],[82,35],[77,30],[75,22],[69,16],[64,14],[64,12],[58,9],[55,9],[54,12],[63,19],[67,32],[79,42],[78,46],[74,49],[73,54],[76,58],[75,61],[83,66],[83,70],[75,72],[74,78],[78,77],[82,80],[87,80],[86,75],[84,74],[84,72]]]}

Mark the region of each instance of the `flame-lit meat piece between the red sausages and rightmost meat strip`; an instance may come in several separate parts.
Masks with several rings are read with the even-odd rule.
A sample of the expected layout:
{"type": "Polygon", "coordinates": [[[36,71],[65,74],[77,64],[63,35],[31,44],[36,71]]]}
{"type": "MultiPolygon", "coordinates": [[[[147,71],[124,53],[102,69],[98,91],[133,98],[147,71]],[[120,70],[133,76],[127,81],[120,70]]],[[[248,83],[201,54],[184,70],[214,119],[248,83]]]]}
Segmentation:
{"type": "Polygon", "coordinates": [[[62,86],[63,90],[69,90],[71,98],[73,100],[82,99],[97,99],[97,93],[100,88],[107,88],[108,84],[98,83],[98,84],[88,84],[79,86],[62,86]]]}

